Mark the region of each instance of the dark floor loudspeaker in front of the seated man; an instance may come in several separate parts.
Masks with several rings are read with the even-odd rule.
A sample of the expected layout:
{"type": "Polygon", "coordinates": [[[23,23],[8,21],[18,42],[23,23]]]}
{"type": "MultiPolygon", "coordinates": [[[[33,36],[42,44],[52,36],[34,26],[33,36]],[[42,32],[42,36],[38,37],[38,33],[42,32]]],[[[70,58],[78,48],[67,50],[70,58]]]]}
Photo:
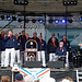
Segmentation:
{"type": "Polygon", "coordinates": [[[65,61],[48,61],[48,68],[63,68],[65,61]]]}

